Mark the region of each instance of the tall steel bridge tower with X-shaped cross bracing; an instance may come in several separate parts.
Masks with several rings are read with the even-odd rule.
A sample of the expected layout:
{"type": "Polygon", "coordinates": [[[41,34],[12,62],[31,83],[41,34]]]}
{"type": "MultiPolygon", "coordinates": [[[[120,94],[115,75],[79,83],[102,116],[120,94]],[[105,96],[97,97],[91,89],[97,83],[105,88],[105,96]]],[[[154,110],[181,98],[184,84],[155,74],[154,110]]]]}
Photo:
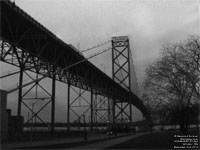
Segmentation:
{"type": "MultiPolygon", "coordinates": [[[[131,64],[128,36],[112,38],[112,78],[115,82],[131,92],[131,64]]],[[[129,94],[130,95],[130,94],[129,94]]],[[[113,121],[116,123],[132,122],[132,106],[128,100],[113,98],[113,121]]]]}

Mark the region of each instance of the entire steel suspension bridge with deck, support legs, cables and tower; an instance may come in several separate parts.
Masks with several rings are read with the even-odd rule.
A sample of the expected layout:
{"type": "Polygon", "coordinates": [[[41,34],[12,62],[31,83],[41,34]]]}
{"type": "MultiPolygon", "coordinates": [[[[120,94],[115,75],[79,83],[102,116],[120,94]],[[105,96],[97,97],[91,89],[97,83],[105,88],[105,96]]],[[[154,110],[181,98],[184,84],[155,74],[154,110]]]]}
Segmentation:
{"type": "MultiPolygon", "coordinates": [[[[29,16],[11,1],[1,3],[0,59],[2,62],[16,66],[19,71],[2,75],[1,80],[19,75],[17,87],[6,91],[9,95],[18,92],[17,117],[24,117],[22,108],[30,115],[23,124],[26,125],[37,118],[38,121],[55,131],[56,82],[68,85],[67,91],[67,130],[70,130],[70,117],[74,114],[80,120],[89,115],[91,130],[97,123],[119,123],[119,120],[132,123],[132,106],[137,107],[147,120],[150,115],[139,98],[137,80],[131,56],[129,38],[127,36],[112,37],[111,40],[78,51],[74,46],[66,44],[55,34],[29,16]],[[84,53],[100,48],[105,44],[111,46],[89,56],[84,53]],[[111,51],[112,77],[106,75],[89,60],[111,51]],[[24,79],[28,78],[29,81],[24,79]],[[51,80],[51,87],[45,88],[42,81],[51,80]],[[31,80],[31,81],[30,81],[31,80]],[[38,89],[46,96],[40,96],[38,89]],[[34,96],[28,97],[34,89],[34,96]],[[51,89],[49,91],[49,89],[51,89]],[[73,93],[73,94],[72,94],[73,93]],[[86,96],[84,94],[86,93],[86,96]],[[27,101],[33,101],[32,107],[27,101]],[[34,105],[42,101],[43,105],[35,111],[34,105]],[[84,105],[81,105],[84,104],[84,105]],[[80,105],[76,105],[80,104],[80,105]],[[50,124],[40,117],[47,106],[50,107],[50,124]],[[85,109],[82,109],[85,108],[85,109]]],[[[2,101],[2,100],[1,100],[2,101]]],[[[20,124],[20,123],[19,123],[20,124]]],[[[20,127],[21,125],[19,125],[20,127]]],[[[20,130],[20,129],[19,129],[20,130]]]]}

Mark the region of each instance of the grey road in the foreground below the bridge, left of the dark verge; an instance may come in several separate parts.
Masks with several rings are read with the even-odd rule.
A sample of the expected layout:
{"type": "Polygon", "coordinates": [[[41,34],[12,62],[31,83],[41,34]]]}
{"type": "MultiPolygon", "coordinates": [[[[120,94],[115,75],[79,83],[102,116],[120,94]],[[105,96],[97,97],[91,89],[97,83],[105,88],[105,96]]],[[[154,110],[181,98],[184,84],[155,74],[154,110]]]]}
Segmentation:
{"type": "Polygon", "coordinates": [[[76,138],[54,138],[51,140],[40,141],[27,141],[27,142],[15,142],[9,144],[3,144],[2,149],[47,149],[47,148],[59,148],[59,149],[103,149],[106,147],[114,146],[116,144],[123,143],[130,139],[139,137],[146,133],[119,133],[115,136],[108,136],[106,134],[90,134],[87,141],[84,137],[76,138]]]}

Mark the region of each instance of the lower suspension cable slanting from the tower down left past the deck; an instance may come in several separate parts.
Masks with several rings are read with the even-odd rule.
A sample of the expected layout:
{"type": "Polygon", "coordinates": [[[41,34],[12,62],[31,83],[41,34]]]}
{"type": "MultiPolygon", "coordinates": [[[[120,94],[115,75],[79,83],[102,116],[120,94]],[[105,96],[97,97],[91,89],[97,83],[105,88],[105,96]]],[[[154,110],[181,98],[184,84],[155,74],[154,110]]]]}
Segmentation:
{"type": "MultiPolygon", "coordinates": [[[[101,54],[103,54],[103,53],[105,53],[105,52],[107,52],[107,51],[109,51],[109,50],[111,50],[111,49],[112,49],[112,48],[109,47],[109,48],[107,48],[107,49],[105,49],[105,50],[103,50],[103,51],[101,51],[101,52],[95,53],[94,55],[92,55],[92,56],[90,56],[90,57],[88,57],[88,58],[85,58],[85,59],[80,60],[80,61],[78,61],[78,62],[76,62],[76,63],[74,63],[74,64],[71,64],[71,65],[69,65],[69,66],[67,66],[67,67],[64,67],[63,69],[61,69],[61,71],[70,69],[70,68],[72,68],[72,67],[74,67],[74,66],[76,66],[76,65],[78,65],[78,64],[81,64],[81,63],[83,63],[83,62],[85,62],[85,61],[87,61],[87,60],[89,60],[89,59],[91,59],[91,58],[94,58],[94,57],[96,57],[96,56],[98,56],[98,55],[101,55],[101,54]]],[[[52,73],[52,75],[54,75],[54,74],[56,74],[56,71],[52,73]]],[[[24,85],[22,85],[22,86],[18,86],[18,87],[16,87],[16,88],[14,88],[14,89],[8,91],[8,94],[17,91],[19,88],[23,88],[23,87],[29,86],[29,85],[31,85],[31,84],[33,84],[33,83],[35,83],[35,82],[40,82],[41,80],[43,80],[43,79],[45,79],[45,78],[47,78],[47,77],[48,77],[48,73],[47,73],[46,75],[44,75],[43,77],[41,77],[41,78],[35,79],[34,81],[31,81],[31,82],[29,82],[29,83],[26,83],[26,84],[24,84],[24,85]]]]}

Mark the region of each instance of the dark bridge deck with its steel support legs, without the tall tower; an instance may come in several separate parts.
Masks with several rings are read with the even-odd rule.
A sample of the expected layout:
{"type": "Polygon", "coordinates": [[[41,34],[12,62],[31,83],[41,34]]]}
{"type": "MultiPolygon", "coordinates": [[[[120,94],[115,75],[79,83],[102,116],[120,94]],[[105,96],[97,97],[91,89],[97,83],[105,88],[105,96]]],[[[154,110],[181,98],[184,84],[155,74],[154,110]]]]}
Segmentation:
{"type": "MultiPolygon", "coordinates": [[[[118,102],[133,104],[147,118],[149,117],[146,108],[137,96],[112,80],[88,60],[85,60],[84,56],[76,49],[58,39],[52,32],[47,30],[14,3],[10,1],[0,1],[0,3],[0,60],[20,68],[18,116],[21,115],[21,104],[26,105],[23,101],[24,95],[22,94],[23,86],[25,85],[23,83],[23,76],[27,71],[30,71],[52,79],[51,92],[46,91],[49,93],[49,101],[46,105],[51,103],[52,133],[54,132],[55,122],[56,81],[68,84],[68,124],[69,110],[72,108],[70,105],[70,88],[72,86],[91,93],[91,124],[94,121],[94,112],[98,110],[98,100],[95,100],[95,95],[106,97],[104,100],[108,101],[106,105],[113,105],[112,100],[114,99],[118,100],[118,102]],[[83,62],[69,69],[63,69],[66,66],[80,61],[83,62]]],[[[35,79],[32,78],[33,83],[40,86],[40,80],[37,80],[37,78],[37,76],[35,79]]],[[[111,112],[114,109],[113,106],[109,105],[106,109],[108,110],[108,115],[113,114],[111,112]]],[[[39,118],[39,112],[33,113],[35,117],[39,118]]],[[[103,117],[101,116],[101,118],[103,117]]]]}

